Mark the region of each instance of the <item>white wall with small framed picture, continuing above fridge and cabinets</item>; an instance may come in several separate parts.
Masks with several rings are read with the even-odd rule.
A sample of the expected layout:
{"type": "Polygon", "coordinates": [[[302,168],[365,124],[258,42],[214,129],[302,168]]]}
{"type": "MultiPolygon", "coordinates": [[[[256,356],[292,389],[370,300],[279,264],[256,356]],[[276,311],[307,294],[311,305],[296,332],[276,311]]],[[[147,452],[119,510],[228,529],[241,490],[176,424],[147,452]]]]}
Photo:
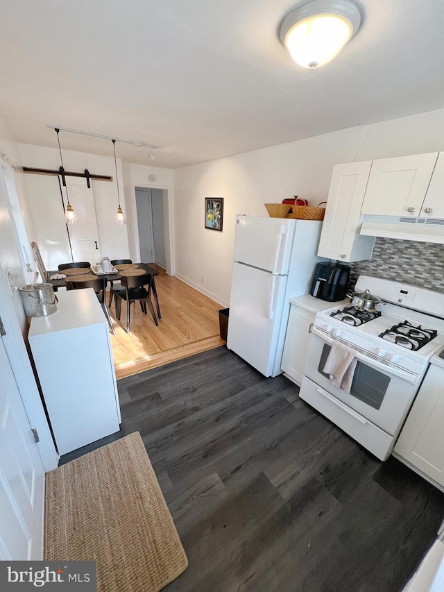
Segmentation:
{"type": "Polygon", "coordinates": [[[176,275],[228,305],[234,217],[264,203],[327,198],[334,164],[444,150],[444,110],[349,128],[174,171],[176,275]],[[223,232],[203,226],[204,198],[223,197],[223,232]]]}

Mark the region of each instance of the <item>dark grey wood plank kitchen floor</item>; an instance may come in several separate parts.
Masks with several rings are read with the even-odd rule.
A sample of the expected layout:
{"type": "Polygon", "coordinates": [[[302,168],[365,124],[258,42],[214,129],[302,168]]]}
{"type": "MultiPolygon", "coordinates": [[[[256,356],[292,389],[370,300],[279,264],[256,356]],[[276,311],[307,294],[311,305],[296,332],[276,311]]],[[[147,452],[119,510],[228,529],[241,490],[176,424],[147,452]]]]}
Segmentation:
{"type": "Polygon", "coordinates": [[[225,347],[118,381],[189,559],[169,592],[399,592],[444,494],[225,347]]]}

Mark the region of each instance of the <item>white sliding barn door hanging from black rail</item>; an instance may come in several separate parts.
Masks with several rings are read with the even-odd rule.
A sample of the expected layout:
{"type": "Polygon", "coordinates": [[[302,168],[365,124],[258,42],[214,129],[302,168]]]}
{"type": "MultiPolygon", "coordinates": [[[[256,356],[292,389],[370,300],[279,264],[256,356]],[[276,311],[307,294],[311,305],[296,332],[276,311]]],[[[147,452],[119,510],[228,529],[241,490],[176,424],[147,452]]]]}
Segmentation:
{"type": "MultiPolygon", "coordinates": [[[[101,249],[92,188],[88,188],[86,179],[81,177],[66,177],[66,182],[69,202],[77,216],[76,224],[67,225],[73,260],[94,265],[101,260],[101,249]]],[[[66,208],[65,187],[62,194],[66,208]]]]}

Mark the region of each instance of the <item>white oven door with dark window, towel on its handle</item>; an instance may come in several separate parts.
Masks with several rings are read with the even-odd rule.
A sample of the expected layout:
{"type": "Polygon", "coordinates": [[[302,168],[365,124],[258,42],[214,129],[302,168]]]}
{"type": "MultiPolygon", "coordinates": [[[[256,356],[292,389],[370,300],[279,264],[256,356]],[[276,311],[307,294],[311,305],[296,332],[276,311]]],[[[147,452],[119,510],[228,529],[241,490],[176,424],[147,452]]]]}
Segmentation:
{"type": "Polygon", "coordinates": [[[313,328],[304,374],[389,434],[397,434],[418,390],[419,377],[400,368],[391,369],[357,351],[352,387],[346,393],[334,387],[323,371],[333,339],[313,328]]]}

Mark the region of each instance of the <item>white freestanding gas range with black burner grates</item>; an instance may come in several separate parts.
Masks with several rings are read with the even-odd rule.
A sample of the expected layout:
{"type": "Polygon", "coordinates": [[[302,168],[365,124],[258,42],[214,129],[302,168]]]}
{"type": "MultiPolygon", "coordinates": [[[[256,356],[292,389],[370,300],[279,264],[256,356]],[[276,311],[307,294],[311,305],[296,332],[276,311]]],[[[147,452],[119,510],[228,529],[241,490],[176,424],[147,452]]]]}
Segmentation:
{"type": "Polygon", "coordinates": [[[366,289],[383,301],[370,312],[333,306],[316,314],[300,397],[385,460],[429,358],[444,346],[444,294],[359,276],[355,291],[366,289]],[[324,371],[333,344],[356,363],[349,391],[324,371]]]}

